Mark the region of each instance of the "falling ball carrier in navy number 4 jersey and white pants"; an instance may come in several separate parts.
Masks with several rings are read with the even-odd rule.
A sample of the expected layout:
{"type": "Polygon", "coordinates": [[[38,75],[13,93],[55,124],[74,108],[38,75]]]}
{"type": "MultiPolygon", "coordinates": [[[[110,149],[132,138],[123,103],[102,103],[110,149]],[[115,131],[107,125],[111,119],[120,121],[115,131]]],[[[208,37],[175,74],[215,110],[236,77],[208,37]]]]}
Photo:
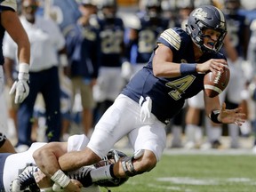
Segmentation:
{"type": "MultiPolygon", "coordinates": [[[[63,171],[93,164],[124,136],[128,136],[133,156],[120,159],[98,172],[100,179],[132,177],[152,170],[166,144],[165,121],[179,113],[185,100],[204,90],[204,73],[223,72],[225,57],[218,53],[226,35],[223,13],[212,5],[196,8],[188,18],[186,31],[169,28],[157,39],[148,65],[124,87],[96,124],[91,140],[81,151],[60,156],[63,171]]],[[[243,124],[241,108],[225,108],[219,97],[204,94],[205,110],[215,123],[243,124]]],[[[54,174],[58,168],[34,156],[42,172],[54,174]]],[[[51,156],[47,156],[51,158],[51,156]]]]}

